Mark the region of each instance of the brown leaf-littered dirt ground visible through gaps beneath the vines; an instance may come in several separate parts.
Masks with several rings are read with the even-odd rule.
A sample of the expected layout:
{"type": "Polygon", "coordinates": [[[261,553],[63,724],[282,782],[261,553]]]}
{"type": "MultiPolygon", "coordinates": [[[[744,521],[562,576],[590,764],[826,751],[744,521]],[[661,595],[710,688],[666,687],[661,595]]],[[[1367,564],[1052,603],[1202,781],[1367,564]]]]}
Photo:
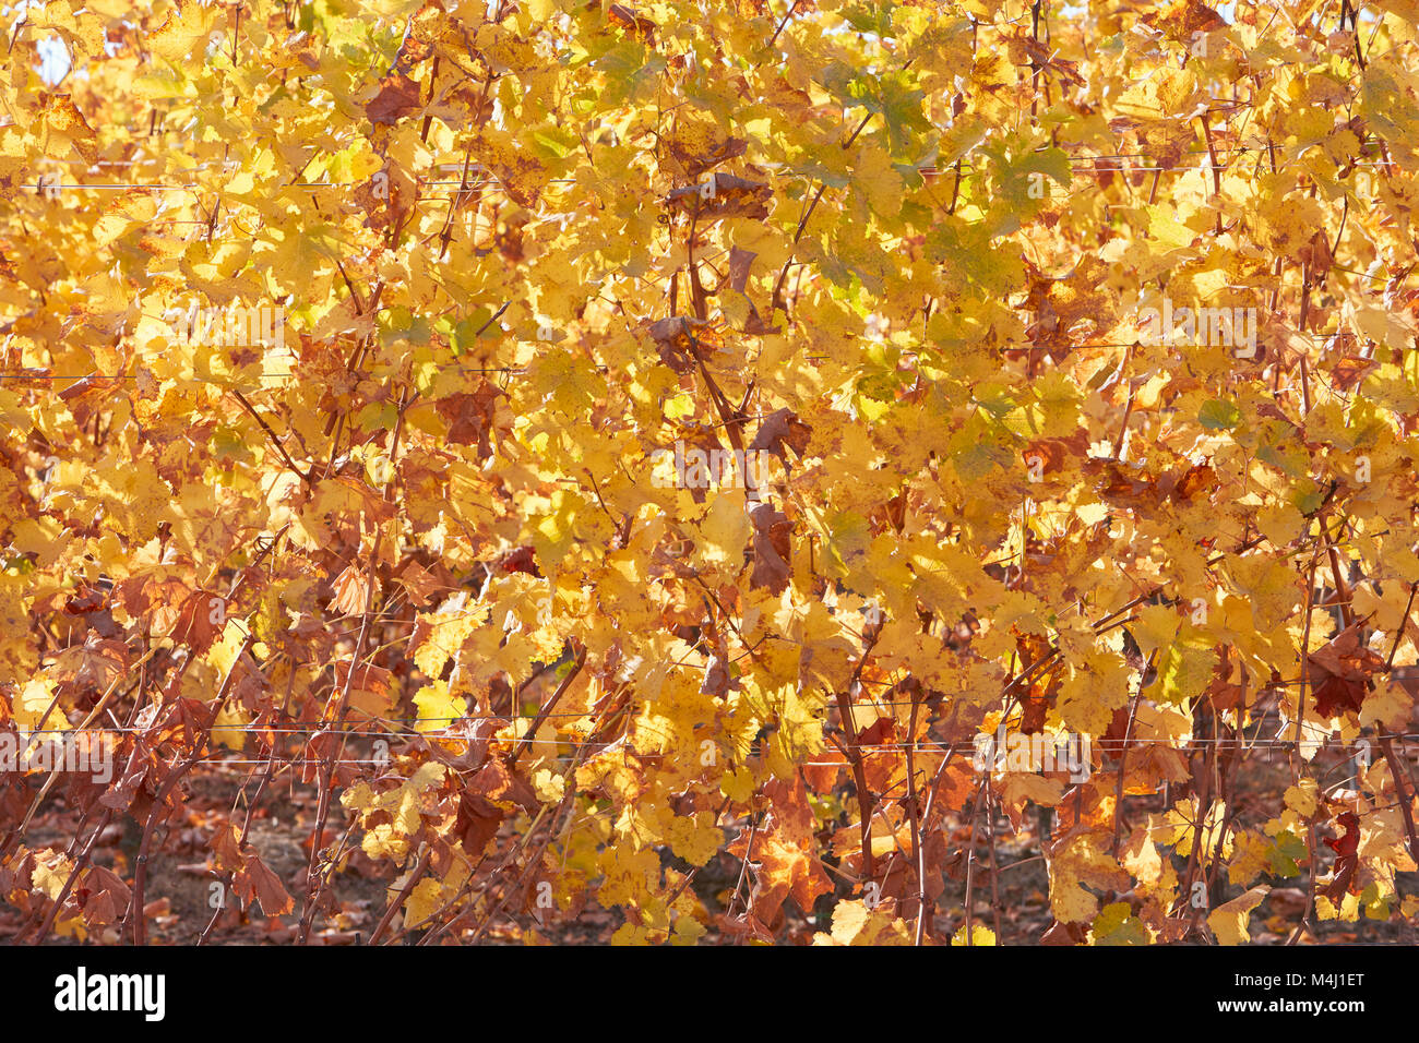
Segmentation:
{"type": "MultiPolygon", "coordinates": [[[[167,836],[158,837],[160,843],[153,844],[145,894],[150,944],[194,944],[207,928],[213,914],[217,912],[216,903],[220,901],[221,887],[214,883],[217,874],[207,861],[207,844],[213,827],[227,822],[231,815],[244,779],[244,772],[236,769],[217,769],[194,779],[193,788],[189,789],[186,822],[175,826],[167,836]]],[[[1256,822],[1257,816],[1264,817],[1274,813],[1271,809],[1279,806],[1279,795],[1288,783],[1290,773],[1284,761],[1270,765],[1264,761],[1252,762],[1249,772],[1239,779],[1236,795],[1239,817],[1243,822],[1256,822]]],[[[1125,807],[1125,829],[1130,823],[1141,822],[1149,812],[1161,812],[1162,806],[1162,795],[1130,798],[1125,807]]],[[[342,830],[343,822],[338,812],[336,807],[331,826],[335,830],[342,830]]],[[[248,840],[261,860],[281,877],[282,884],[295,897],[295,912],[265,918],[255,905],[248,911],[241,911],[237,908],[237,903],[230,901],[228,893],[207,944],[280,945],[295,941],[312,840],[311,823],[315,815],[316,793],[312,786],[287,783],[284,788],[272,786],[267,790],[261,806],[254,813],[248,840]]],[[[26,843],[31,849],[50,844],[64,846],[72,836],[75,826],[77,816],[64,806],[62,798],[50,798],[31,823],[26,843]]],[[[507,829],[504,832],[507,833],[507,829]]],[[[732,834],[734,830],[727,830],[727,837],[732,834]]],[[[973,874],[973,922],[998,932],[1000,944],[1037,945],[1053,924],[1049,907],[1049,874],[1040,851],[1040,819],[1027,815],[1022,830],[1015,833],[1003,816],[996,817],[995,859],[998,873],[993,885],[989,873],[988,836],[982,823],[978,832],[978,861],[973,874]]],[[[339,833],[328,827],[326,840],[338,837],[339,833]]],[[[949,839],[951,849],[959,850],[968,841],[969,830],[958,823],[949,839]]],[[[507,836],[498,843],[508,843],[507,836]]],[[[335,911],[331,915],[316,917],[312,944],[362,944],[370,937],[392,897],[392,893],[386,890],[390,876],[387,864],[375,864],[358,850],[358,833],[349,839],[349,846],[355,849],[355,854],[350,857],[346,871],[336,874],[332,884],[335,911]]],[[[128,829],[109,827],[95,847],[94,861],[98,866],[112,868],[123,878],[131,878],[136,850],[138,830],[135,827],[131,824],[128,829]]],[[[964,864],[962,859],[954,860],[945,876],[945,890],[937,903],[932,920],[932,932],[938,939],[951,937],[965,922],[966,873],[964,864]]],[[[1181,868],[1182,863],[1178,864],[1181,868]]],[[[1330,867],[1323,864],[1320,871],[1321,874],[1328,873],[1330,867]]],[[[719,854],[695,874],[691,888],[705,910],[718,914],[724,911],[725,900],[739,873],[738,859],[719,854]]],[[[1298,877],[1290,880],[1263,878],[1263,883],[1270,883],[1274,890],[1253,914],[1253,942],[1259,945],[1281,944],[1294,929],[1305,907],[1307,878],[1304,868],[1298,877]]],[[[1419,890],[1419,874],[1402,874],[1399,883],[1402,893],[1412,894],[1419,890]]],[[[850,885],[839,880],[836,897],[850,895],[850,885]]],[[[1105,901],[1112,897],[1101,895],[1105,901]]],[[[1127,897],[1122,895],[1124,900],[1127,897]]],[[[785,905],[788,914],[783,931],[785,942],[806,944],[812,941],[815,932],[830,929],[829,915],[833,898],[834,895],[824,895],[810,911],[797,910],[789,901],[785,905]]],[[[0,905],[0,938],[11,937],[20,927],[20,920],[13,907],[0,905]]],[[[553,917],[545,924],[535,924],[525,912],[515,912],[502,915],[482,941],[487,944],[517,944],[529,937],[528,931],[535,931],[539,941],[552,944],[600,944],[609,941],[622,922],[623,915],[619,910],[602,910],[595,904],[573,918],[553,917]]],[[[1328,921],[1315,922],[1314,927],[1315,935],[1303,935],[1303,942],[1415,944],[1419,941],[1413,925],[1399,922],[1398,918],[1389,922],[1364,918],[1352,924],[1328,921]]],[[[75,939],[51,941],[75,944],[75,939]]],[[[101,937],[89,941],[118,942],[118,932],[109,928],[101,937]]],[[[710,932],[701,939],[701,944],[711,945],[736,942],[736,938],[717,929],[712,921],[710,932]]]]}

